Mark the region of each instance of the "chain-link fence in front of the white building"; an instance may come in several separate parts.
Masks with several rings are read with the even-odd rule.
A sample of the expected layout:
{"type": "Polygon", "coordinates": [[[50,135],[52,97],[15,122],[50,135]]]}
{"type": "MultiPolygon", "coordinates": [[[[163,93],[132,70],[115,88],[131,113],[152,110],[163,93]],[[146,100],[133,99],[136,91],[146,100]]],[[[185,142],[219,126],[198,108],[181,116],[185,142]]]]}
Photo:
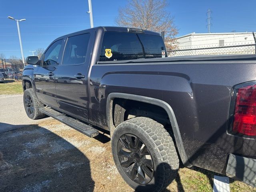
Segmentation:
{"type": "MultiPolygon", "coordinates": [[[[178,47],[178,46],[177,46],[178,47]]],[[[256,44],[230,44],[226,46],[196,46],[196,48],[169,50],[168,56],[256,54],[256,44]]]]}

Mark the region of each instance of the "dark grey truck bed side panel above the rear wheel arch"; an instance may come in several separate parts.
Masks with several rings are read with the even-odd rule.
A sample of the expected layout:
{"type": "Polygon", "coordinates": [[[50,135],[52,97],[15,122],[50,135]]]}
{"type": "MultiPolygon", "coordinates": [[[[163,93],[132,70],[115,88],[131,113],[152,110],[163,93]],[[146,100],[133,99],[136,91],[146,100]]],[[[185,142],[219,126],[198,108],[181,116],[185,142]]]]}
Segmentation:
{"type": "Polygon", "coordinates": [[[226,134],[232,87],[256,79],[255,61],[96,64],[90,73],[90,120],[107,126],[112,92],[167,102],[192,165],[224,173],[228,154],[256,158],[255,140],[226,134]]]}

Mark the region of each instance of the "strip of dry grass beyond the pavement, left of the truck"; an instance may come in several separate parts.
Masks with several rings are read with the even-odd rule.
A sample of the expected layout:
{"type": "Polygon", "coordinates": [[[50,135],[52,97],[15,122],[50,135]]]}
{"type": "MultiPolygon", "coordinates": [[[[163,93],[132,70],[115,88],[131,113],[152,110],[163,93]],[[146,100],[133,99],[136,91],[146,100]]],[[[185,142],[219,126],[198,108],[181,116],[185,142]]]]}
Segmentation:
{"type": "Polygon", "coordinates": [[[14,80],[5,80],[0,83],[0,95],[2,94],[22,94],[22,82],[14,80]]]}

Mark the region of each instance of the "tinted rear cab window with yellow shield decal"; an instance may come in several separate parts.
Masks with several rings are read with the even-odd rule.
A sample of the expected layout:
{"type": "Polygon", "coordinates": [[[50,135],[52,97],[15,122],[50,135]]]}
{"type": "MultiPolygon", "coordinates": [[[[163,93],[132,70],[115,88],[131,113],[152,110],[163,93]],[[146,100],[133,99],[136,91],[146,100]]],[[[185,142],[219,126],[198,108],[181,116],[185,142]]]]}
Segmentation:
{"type": "Polygon", "coordinates": [[[105,32],[99,61],[161,58],[162,50],[166,52],[161,36],[105,32]]]}

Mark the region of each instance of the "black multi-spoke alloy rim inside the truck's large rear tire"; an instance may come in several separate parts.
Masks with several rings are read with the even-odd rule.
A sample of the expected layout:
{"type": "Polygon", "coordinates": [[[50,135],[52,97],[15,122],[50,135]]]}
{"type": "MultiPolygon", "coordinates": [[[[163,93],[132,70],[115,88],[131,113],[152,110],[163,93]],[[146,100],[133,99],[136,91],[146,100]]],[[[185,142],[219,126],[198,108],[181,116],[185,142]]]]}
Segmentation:
{"type": "Polygon", "coordinates": [[[140,185],[154,176],[154,162],[147,146],[133,134],[123,134],[117,144],[117,155],[126,175],[140,185]]]}

